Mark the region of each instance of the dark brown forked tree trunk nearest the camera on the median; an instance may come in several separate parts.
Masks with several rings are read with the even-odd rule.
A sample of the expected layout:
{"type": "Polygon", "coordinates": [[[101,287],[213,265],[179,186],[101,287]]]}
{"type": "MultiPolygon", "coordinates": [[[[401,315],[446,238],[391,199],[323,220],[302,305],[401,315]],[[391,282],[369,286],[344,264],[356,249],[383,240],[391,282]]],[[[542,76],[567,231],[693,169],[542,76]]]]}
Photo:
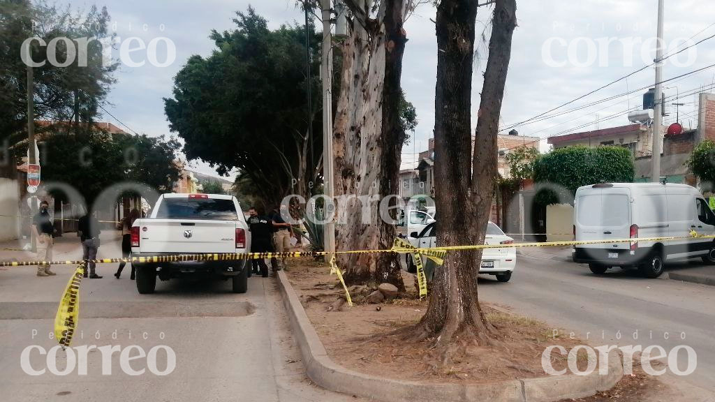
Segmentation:
{"type": "MultiPolygon", "coordinates": [[[[495,4],[478,132],[472,159],[471,82],[477,1],[442,0],[437,9],[435,88],[435,195],[440,214],[438,244],[483,244],[497,175],[498,119],[501,113],[516,0],[495,4]]],[[[430,304],[418,337],[435,337],[445,354],[465,343],[488,343],[494,328],[477,293],[481,250],[450,252],[435,272],[430,304]]]]}

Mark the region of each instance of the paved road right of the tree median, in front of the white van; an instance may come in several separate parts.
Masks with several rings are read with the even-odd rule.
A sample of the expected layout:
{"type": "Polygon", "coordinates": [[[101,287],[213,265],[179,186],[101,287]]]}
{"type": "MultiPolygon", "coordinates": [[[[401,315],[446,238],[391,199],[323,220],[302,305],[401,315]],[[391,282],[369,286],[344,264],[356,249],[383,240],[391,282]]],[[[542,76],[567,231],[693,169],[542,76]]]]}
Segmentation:
{"type": "MultiPolygon", "coordinates": [[[[666,265],[666,272],[686,265],[666,265]]],[[[706,399],[698,400],[715,401],[715,287],[646,279],[619,268],[598,276],[586,265],[526,255],[518,255],[511,282],[493,278],[480,279],[481,300],[588,336],[593,346],[661,345],[669,352],[689,345],[697,354],[696,371],[681,377],[669,373],[664,379],[701,388],[706,399]]],[[[685,370],[686,353],[679,353],[678,361],[685,370]]]]}

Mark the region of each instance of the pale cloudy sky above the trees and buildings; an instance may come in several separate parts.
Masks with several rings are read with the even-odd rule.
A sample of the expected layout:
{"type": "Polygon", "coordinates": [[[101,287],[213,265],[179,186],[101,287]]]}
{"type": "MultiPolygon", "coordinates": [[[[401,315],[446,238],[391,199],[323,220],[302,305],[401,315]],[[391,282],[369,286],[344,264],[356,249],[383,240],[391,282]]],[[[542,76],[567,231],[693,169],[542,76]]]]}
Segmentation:
{"type": "MultiPolygon", "coordinates": [[[[64,1],[63,3],[66,3],[64,1]]],[[[644,67],[654,58],[649,52],[652,46],[643,46],[639,41],[655,36],[656,0],[518,0],[518,28],[514,34],[512,60],[509,69],[506,95],[503,102],[501,123],[503,127],[521,122],[559,104],[596,89],[613,79],[644,67]],[[555,39],[552,39],[555,38],[555,39]],[[545,44],[553,42],[546,50],[553,62],[544,57],[545,44]],[[563,41],[562,41],[563,40],[563,41]],[[607,45],[606,45],[607,44],[607,45]],[[631,46],[632,44],[632,46],[631,46]],[[646,48],[644,50],[644,47],[646,48]],[[589,64],[588,54],[596,49],[596,62],[589,64]],[[571,51],[571,54],[569,52],[571,51]],[[641,55],[643,51],[643,55],[641,55]],[[631,61],[632,59],[632,61],[631,61]],[[645,60],[645,61],[644,61],[645,60]],[[602,63],[601,63],[602,62],[602,63]]],[[[245,11],[249,4],[264,16],[270,26],[277,27],[287,21],[302,23],[302,11],[293,0],[90,0],[69,1],[74,9],[87,9],[92,4],[107,6],[112,16],[112,28],[126,39],[142,38],[145,43],[159,36],[171,39],[177,50],[176,60],[168,67],[120,67],[116,74],[117,84],[109,94],[107,110],[122,124],[131,129],[158,136],[170,134],[164,116],[162,97],[170,97],[174,75],[192,54],[207,56],[213,43],[209,31],[232,29],[231,19],[235,11],[245,11]]],[[[665,42],[669,50],[682,49],[676,39],[705,39],[715,34],[715,8],[706,0],[666,1],[665,42]],[[703,31],[704,30],[704,31],[703,31]]],[[[480,9],[478,34],[485,31],[488,38],[490,10],[480,9]]],[[[408,33],[407,48],[403,63],[403,88],[418,112],[417,132],[414,142],[403,149],[403,167],[410,166],[413,152],[427,147],[434,126],[434,87],[437,64],[433,6],[421,6],[410,16],[405,29],[408,33]]],[[[159,46],[161,49],[161,46],[159,46]]],[[[666,51],[667,52],[667,51],[666,51]]],[[[142,52],[137,52],[142,59],[142,52]]],[[[115,53],[115,57],[118,52],[115,53]]],[[[475,59],[473,79],[473,123],[478,109],[481,87],[481,72],[485,68],[486,46],[479,47],[475,59]]],[[[715,39],[696,46],[694,60],[686,64],[689,54],[679,55],[680,66],[666,62],[664,77],[669,79],[694,69],[715,64],[715,39]]],[[[162,61],[162,55],[159,55],[162,61]]],[[[585,105],[628,90],[646,87],[654,82],[654,70],[645,69],[627,81],[618,82],[565,109],[585,105]]],[[[715,68],[666,84],[666,94],[685,94],[687,90],[715,83],[715,68]]],[[[681,122],[693,127],[697,124],[694,96],[673,99],[671,102],[686,103],[680,109],[681,122]]],[[[636,107],[641,102],[641,93],[613,99],[610,102],[586,107],[580,111],[564,114],[542,122],[517,127],[520,134],[547,137],[549,135],[586,131],[588,129],[615,127],[627,124],[626,114],[621,112],[636,107]],[[613,118],[606,119],[606,117],[613,118]],[[598,121],[601,120],[601,121],[598,121]]],[[[674,121],[672,116],[666,123],[674,121]]],[[[106,119],[119,124],[109,116],[106,119]]],[[[542,142],[546,149],[546,141],[542,142]]],[[[204,173],[215,172],[202,162],[194,162],[195,169],[204,173]]]]}

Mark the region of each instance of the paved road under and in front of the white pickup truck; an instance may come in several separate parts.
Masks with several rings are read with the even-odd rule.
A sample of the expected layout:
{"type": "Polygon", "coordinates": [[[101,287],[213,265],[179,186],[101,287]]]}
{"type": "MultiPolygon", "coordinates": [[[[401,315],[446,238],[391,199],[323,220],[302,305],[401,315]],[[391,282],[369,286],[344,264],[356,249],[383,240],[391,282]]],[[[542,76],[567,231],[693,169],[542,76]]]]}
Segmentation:
{"type": "MultiPolygon", "coordinates": [[[[34,349],[31,370],[45,373],[30,376],[21,368],[23,350],[57,345],[49,333],[74,270],[53,269],[58,275],[50,278],[36,278],[34,268],[0,270],[2,401],[356,401],[307,380],[274,278],[250,278],[245,295],[231,293],[230,282],[182,281],[158,283],[156,294],[139,295],[127,270],[120,280],[111,275],[113,265],[99,268],[103,279],[83,281],[79,333],[72,343],[119,346],[107,358],[111,375],[103,374],[104,351],[89,350],[86,365],[77,361],[73,371],[59,376],[51,366],[61,371],[71,358],[62,350],[48,358],[34,349]],[[157,346],[171,348],[174,370],[155,375],[145,357],[129,361],[132,370],[144,369],[130,376],[121,356],[124,350],[128,357],[140,353],[131,345],[147,354],[157,346]]],[[[156,351],[154,371],[169,371],[167,348],[156,351]]]]}

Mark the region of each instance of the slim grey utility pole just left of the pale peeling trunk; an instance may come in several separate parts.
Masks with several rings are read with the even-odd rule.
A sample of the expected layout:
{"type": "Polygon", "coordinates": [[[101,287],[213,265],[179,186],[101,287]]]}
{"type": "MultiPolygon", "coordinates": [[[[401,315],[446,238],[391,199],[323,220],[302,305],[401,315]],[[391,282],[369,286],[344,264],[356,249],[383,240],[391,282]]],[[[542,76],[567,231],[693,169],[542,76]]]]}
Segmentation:
{"type": "Polygon", "coordinates": [[[332,160],[332,35],[330,34],[330,0],[321,0],[322,6],[322,176],[325,181],[325,216],[331,219],[325,225],[324,249],[335,253],[335,182],[332,160]]]}

